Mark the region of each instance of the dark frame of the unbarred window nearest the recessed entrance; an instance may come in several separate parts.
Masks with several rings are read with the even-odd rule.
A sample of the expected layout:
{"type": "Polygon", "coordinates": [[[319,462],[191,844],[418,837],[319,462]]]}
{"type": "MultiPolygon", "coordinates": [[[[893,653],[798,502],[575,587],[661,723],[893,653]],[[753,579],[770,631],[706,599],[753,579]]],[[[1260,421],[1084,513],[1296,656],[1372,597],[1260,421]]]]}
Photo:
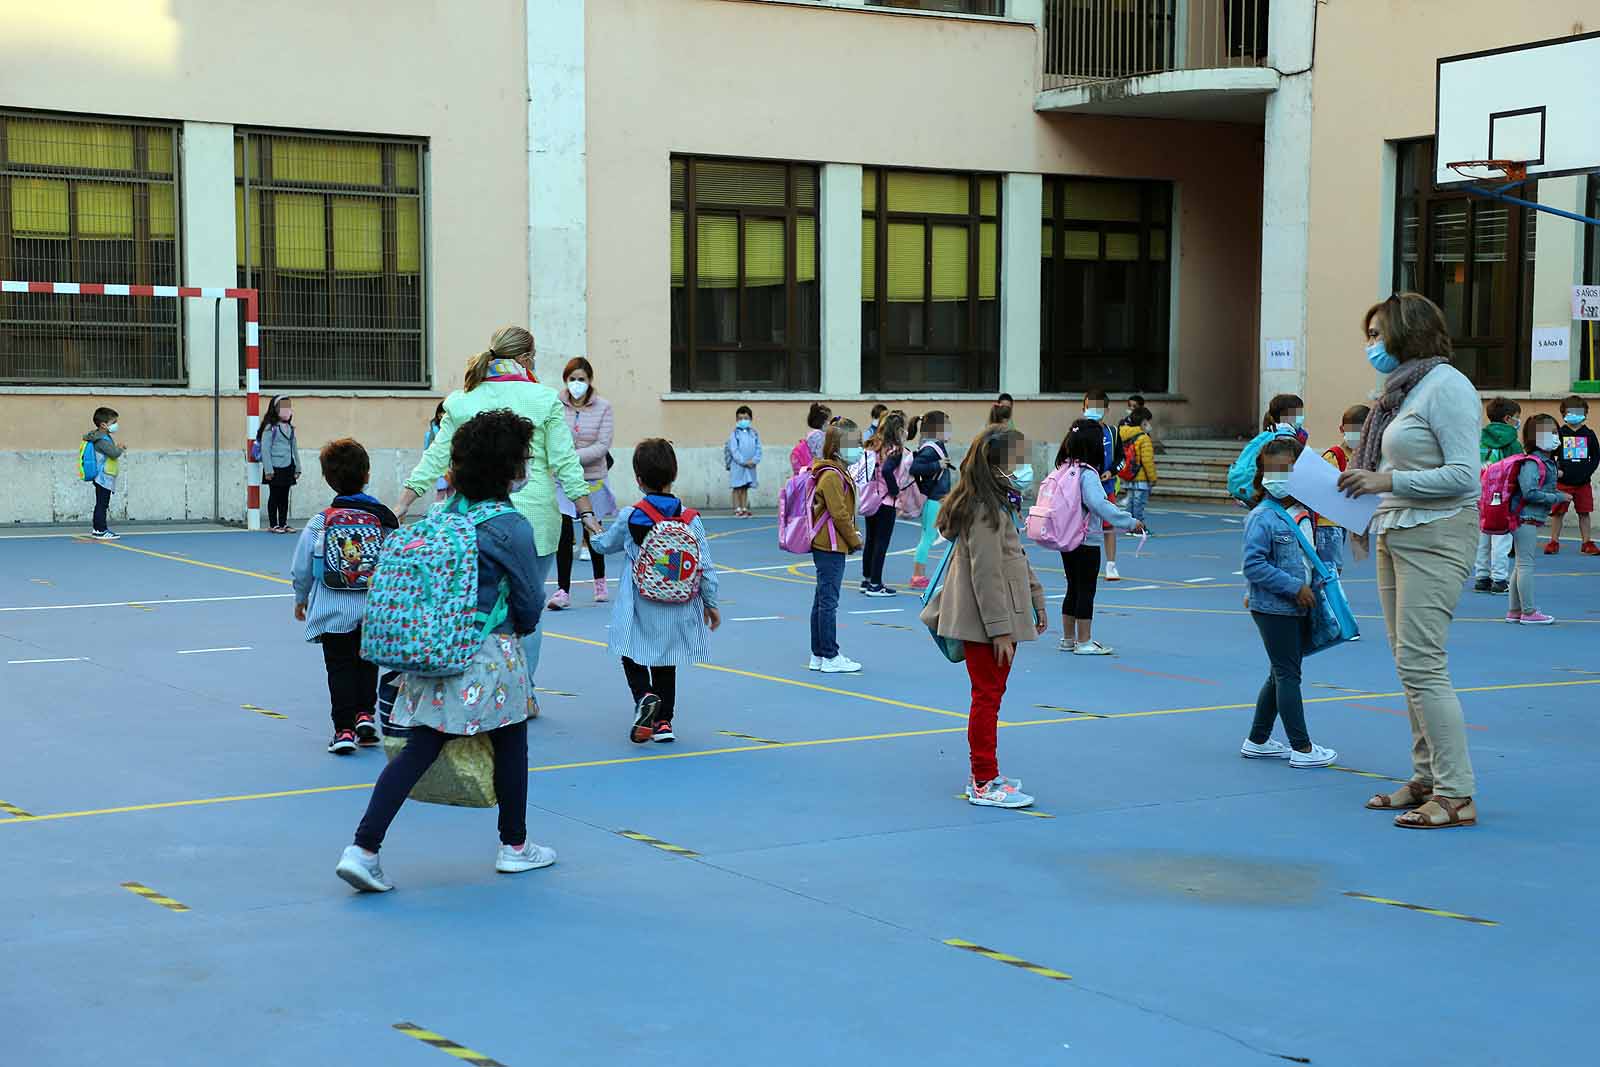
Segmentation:
{"type": "MultiPolygon", "coordinates": [[[[1051,211],[1048,216],[1043,214],[1043,205],[1040,205],[1040,226],[1051,227],[1051,274],[1050,274],[1050,294],[1040,293],[1040,330],[1038,330],[1038,376],[1040,376],[1040,392],[1043,394],[1080,394],[1085,389],[1112,389],[1112,390],[1128,390],[1142,394],[1165,394],[1171,392],[1171,374],[1173,374],[1173,358],[1171,358],[1171,312],[1173,312],[1173,282],[1174,261],[1173,261],[1173,206],[1176,203],[1176,186],[1170,181],[1150,181],[1150,179],[1123,179],[1123,178],[1085,178],[1077,174],[1046,174],[1045,190],[1051,197],[1051,211]],[[1136,186],[1139,189],[1139,221],[1107,221],[1107,219],[1078,219],[1066,214],[1066,192],[1067,186],[1078,182],[1091,184],[1117,184],[1117,186],[1136,186]],[[1158,200],[1165,194],[1165,216],[1157,218],[1158,200]],[[1136,310],[1133,314],[1133,322],[1138,323],[1139,342],[1133,347],[1107,347],[1099,342],[1098,323],[1091,325],[1091,331],[1096,333],[1096,344],[1091,346],[1072,346],[1066,344],[1066,322],[1067,322],[1067,232],[1086,232],[1094,230],[1099,240],[1099,254],[1094,261],[1078,261],[1070,262],[1093,262],[1096,267],[1096,277],[1106,274],[1107,264],[1114,262],[1106,258],[1106,238],[1110,234],[1138,234],[1139,238],[1139,258],[1138,270],[1134,275],[1134,291],[1136,298],[1133,301],[1136,310]],[[1166,258],[1162,261],[1152,259],[1150,256],[1150,237],[1152,234],[1162,232],[1166,235],[1166,258]],[[1160,315],[1155,315],[1155,294],[1154,280],[1155,267],[1152,264],[1166,264],[1166,285],[1160,290],[1160,299],[1165,307],[1162,307],[1160,315]],[[1150,326],[1152,323],[1162,323],[1160,336],[1154,336],[1150,326]],[[1070,370],[1082,370],[1082,365],[1107,366],[1112,362],[1131,362],[1134,365],[1134,373],[1126,381],[1115,381],[1114,374],[1106,371],[1077,374],[1074,376],[1070,370]],[[1154,373],[1150,368],[1160,366],[1160,373],[1154,373]],[[1107,382],[1106,379],[1114,381],[1107,382]]],[[[1043,256],[1040,256],[1043,261],[1043,256]]],[[[1042,264],[1043,269],[1043,264],[1042,264]]],[[[1042,288],[1045,278],[1040,278],[1042,288]]]]}

